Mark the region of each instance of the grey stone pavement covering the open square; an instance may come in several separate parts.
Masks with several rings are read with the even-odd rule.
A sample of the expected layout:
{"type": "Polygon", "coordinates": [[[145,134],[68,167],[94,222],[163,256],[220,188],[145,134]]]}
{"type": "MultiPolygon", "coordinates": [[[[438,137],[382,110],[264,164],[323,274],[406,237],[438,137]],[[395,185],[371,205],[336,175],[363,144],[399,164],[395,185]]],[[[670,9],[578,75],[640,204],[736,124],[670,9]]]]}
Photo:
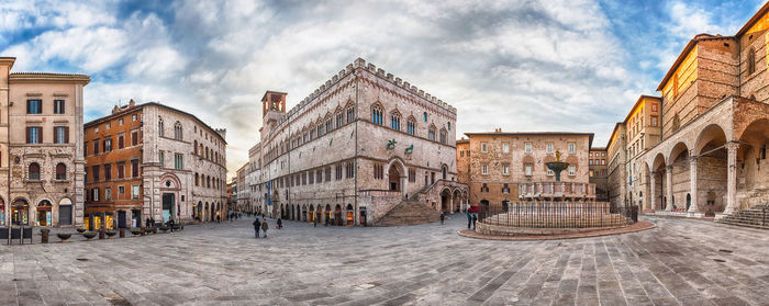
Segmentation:
{"type": "MultiPolygon", "coordinates": [[[[650,230],[493,241],[446,225],[250,219],[182,233],[0,246],[0,305],[769,305],[769,231],[651,219],[650,230]]],[[[58,240],[56,238],[52,240],[58,240]]]]}

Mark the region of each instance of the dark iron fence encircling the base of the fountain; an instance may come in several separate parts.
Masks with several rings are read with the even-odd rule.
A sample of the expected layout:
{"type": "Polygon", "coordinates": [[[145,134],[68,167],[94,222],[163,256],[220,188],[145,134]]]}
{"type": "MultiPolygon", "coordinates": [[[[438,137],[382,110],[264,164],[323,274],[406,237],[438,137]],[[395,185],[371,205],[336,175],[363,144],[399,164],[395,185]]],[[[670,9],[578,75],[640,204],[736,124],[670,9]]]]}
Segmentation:
{"type": "Polygon", "coordinates": [[[608,202],[508,202],[479,208],[479,222],[508,227],[598,228],[638,222],[637,205],[615,207],[608,202]]]}

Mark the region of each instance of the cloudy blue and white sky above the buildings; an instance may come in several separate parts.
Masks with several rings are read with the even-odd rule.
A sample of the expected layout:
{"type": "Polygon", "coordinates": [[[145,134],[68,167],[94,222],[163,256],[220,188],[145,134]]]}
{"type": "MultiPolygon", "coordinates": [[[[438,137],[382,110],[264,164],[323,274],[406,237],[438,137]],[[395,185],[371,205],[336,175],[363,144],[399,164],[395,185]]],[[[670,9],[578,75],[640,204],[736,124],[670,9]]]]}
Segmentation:
{"type": "Polygon", "coordinates": [[[290,109],[358,57],[457,107],[457,137],[588,132],[602,147],[690,38],[734,35],[762,4],[0,0],[0,56],[15,72],[89,75],[86,122],[133,99],[226,128],[232,177],[266,90],[290,109]]]}

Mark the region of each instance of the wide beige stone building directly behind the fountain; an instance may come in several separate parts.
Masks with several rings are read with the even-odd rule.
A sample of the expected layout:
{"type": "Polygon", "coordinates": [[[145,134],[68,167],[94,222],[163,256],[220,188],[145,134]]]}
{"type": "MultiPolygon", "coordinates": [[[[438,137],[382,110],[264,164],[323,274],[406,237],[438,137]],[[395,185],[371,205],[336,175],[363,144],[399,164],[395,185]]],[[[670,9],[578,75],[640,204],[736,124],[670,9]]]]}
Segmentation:
{"type": "Polygon", "coordinates": [[[464,146],[466,152],[459,152],[458,159],[466,159],[469,167],[472,205],[503,208],[510,202],[536,200],[532,194],[555,194],[558,190],[550,188],[561,186],[566,188],[560,191],[561,200],[569,197],[569,193],[579,193],[580,200],[594,200],[588,166],[592,133],[506,133],[495,129],[465,135],[469,137],[469,144],[464,146]],[[561,161],[569,163],[560,175],[564,184],[557,186],[550,184],[555,182],[555,173],[545,165],[556,161],[556,152],[560,152],[561,161]]]}

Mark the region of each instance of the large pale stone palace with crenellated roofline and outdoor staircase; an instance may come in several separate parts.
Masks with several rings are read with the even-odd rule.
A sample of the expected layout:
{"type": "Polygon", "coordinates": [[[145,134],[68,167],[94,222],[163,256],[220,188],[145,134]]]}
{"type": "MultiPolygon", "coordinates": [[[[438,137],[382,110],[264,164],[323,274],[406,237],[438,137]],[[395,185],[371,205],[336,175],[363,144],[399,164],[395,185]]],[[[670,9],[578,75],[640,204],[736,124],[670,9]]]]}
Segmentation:
{"type": "Polygon", "coordinates": [[[384,225],[435,220],[459,206],[453,106],[363,59],[291,110],[286,98],[263,97],[249,157],[269,214],[384,225]]]}

